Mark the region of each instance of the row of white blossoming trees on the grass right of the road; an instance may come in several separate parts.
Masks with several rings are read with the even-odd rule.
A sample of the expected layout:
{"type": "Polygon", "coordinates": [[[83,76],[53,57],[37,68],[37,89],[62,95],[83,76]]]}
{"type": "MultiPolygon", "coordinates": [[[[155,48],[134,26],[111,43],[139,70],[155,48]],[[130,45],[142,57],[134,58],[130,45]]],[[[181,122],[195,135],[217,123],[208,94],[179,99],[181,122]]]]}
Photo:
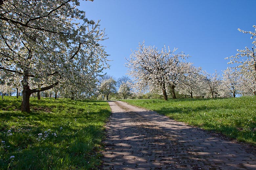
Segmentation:
{"type": "MultiPolygon", "coordinates": [[[[256,39],[255,32],[239,31],[251,34],[251,39],[256,39]]],[[[223,71],[220,77],[215,71],[210,75],[200,67],[186,62],[190,56],[163,47],[158,50],[154,46],[145,46],[139,43],[137,50],[133,51],[126,66],[129,75],[133,77],[132,88],[137,93],[161,93],[165,100],[168,94],[176,99],[179,94],[201,97],[235,97],[240,95],[256,95],[256,41],[252,48],[237,50],[235,56],[228,57],[232,67],[223,71]]]]}

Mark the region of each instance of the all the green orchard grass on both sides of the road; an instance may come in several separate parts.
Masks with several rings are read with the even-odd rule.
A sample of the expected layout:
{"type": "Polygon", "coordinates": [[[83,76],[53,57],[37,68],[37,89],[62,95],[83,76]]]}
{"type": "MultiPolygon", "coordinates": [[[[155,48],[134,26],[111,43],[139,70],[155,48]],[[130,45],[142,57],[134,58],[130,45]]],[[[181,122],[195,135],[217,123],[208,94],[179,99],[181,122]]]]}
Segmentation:
{"type": "MultiPolygon", "coordinates": [[[[255,96],[123,101],[256,145],[255,96]]],[[[0,100],[0,169],[99,169],[107,102],[31,98],[32,112],[20,107],[21,98],[0,100]]]]}

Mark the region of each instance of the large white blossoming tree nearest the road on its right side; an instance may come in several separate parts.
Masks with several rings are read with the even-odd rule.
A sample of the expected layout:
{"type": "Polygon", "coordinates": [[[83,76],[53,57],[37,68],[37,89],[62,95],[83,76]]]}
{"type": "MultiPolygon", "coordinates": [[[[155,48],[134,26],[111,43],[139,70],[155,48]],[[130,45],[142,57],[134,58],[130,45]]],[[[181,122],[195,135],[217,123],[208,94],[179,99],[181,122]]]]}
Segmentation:
{"type": "Polygon", "coordinates": [[[173,83],[173,74],[179,75],[181,63],[188,56],[183,52],[176,54],[177,48],[170,50],[164,46],[158,50],[154,46],[145,46],[144,42],[139,43],[137,49],[132,51],[130,59],[126,59],[128,74],[133,77],[133,88],[139,92],[150,91],[151,87],[160,88],[164,100],[167,100],[166,89],[173,83]]]}

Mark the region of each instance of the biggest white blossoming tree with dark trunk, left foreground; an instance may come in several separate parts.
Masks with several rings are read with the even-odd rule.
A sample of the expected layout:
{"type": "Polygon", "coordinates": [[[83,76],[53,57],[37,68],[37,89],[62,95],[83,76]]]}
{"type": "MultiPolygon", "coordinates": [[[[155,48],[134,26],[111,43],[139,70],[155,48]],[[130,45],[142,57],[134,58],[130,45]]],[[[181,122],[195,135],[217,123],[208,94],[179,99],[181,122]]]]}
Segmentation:
{"type": "Polygon", "coordinates": [[[0,1],[0,69],[22,77],[22,111],[30,111],[32,93],[108,67],[99,44],[104,30],[76,6],[78,0],[0,1]],[[29,82],[42,86],[31,89],[29,82]]]}

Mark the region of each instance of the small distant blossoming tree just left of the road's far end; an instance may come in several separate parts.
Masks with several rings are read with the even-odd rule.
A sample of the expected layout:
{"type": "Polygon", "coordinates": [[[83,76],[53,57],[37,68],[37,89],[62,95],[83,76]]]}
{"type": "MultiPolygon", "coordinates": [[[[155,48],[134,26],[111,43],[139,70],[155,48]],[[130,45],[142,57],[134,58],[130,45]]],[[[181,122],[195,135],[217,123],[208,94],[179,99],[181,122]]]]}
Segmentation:
{"type": "Polygon", "coordinates": [[[99,89],[101,94],[104,96],[104,99],[106,96],[106,99],[108,100],[109,94],[116,93],[117,91],[116,86],[117,86],[117,82],[116,80],[114,80],[113,77],[109,77],[108,79],[103,79],[101,81],[99,89]]]}

